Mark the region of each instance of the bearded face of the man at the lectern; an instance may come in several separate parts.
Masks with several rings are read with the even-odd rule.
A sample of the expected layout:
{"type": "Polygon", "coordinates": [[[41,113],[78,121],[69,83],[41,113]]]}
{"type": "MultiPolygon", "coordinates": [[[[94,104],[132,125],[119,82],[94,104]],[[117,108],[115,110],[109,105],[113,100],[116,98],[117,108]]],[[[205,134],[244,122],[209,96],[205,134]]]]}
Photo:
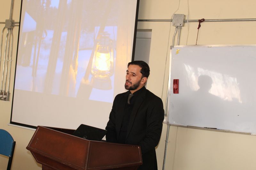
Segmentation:
{"type": "Polygon", "coordinates": [[[126,81],[124,87],[126,90],[130,90],[132,93],[142,88],[147,80],[145,77],[142,78],[140,69],[140,66],[131,64],[126,70],[126,81]]]}

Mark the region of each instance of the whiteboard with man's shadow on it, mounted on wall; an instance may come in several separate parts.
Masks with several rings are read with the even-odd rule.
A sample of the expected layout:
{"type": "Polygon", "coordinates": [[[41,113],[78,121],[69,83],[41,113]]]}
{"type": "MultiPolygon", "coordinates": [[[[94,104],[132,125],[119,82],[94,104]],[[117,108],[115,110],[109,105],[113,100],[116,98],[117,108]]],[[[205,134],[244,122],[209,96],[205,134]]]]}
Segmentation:
{"type": "Polygon", "coordinates": [[[169,124],[256,134],[255,45],[172,46],[170,55],[169,124]]]}

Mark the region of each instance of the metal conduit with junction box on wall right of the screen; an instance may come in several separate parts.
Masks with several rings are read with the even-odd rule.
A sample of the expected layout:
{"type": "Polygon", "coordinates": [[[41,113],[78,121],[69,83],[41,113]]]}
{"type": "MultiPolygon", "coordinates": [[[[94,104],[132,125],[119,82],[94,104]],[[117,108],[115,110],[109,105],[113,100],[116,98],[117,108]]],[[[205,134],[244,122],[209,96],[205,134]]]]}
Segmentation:
{"type": "MultiPolygon", "coordinates": [[[[198,19],[184,19],[184,14],[174,14],[172,19],[138,19],[138,22],[172,22],[172,26],[175,26],[175,32],[173,34],[172,38],[172,46],[174,45],[174,39],[177,33],[178,29],[178,38],[177,38],[177,45],[180,45],[180,31],[181,27],[184,26],[184,23],[188,22],[199,22],[198,19]]],[[[241,21],[256,21],[256,18],[241,18],[241,19],[204,19],[204,22],[241,22],[241,21]]],[[[166,64],[166,63],[165,63],[166,64]]],[[[165,75],[165,73],[164,73],[165,75]]],[[[170,84],[170,75],[168,76],[168,88],[167,88],[167,95],[166,95],[166,103],[165,103],[165,113],[164,116],[166,116],[167,119],[167,113],[168,113],[168,94],[169,94],[169,84],[170,84]]],[[[170,132],[170,126],[169,122],[167,122],[167,132],[166,132],[166,139],[165,139],[165,147],[164,147],[164,161],[163,161],[163,170],[165,168],[165,162],[166,162],[166,154],[167,154],[167,145],[169,140],[169,132],[170,132]]]]}

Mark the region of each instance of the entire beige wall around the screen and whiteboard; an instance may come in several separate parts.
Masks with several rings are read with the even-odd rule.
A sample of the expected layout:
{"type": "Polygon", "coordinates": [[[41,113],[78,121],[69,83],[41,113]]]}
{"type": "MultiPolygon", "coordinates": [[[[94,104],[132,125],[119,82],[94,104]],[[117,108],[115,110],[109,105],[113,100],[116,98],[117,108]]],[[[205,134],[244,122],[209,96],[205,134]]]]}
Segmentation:
{"type": "MultiPolygon", "coordinates": [[[[10,4],[10,1],[1,1],[0,22],[9,18],[10,4]]],[[[139,19],[170,19],[175,11],[177,14],[188,16],[188,6],[188,19],[256,18],[255,0],[140,0],[139,19]]],[[[19,21],[19,15],[20,0],[15,0],[13,19],[19,21]]],[[[147,88],[162,97],[164,103],[169,70],[169,49],[175,29],[171,26],[170,30],[170,24],[168,22],[138,23],[138,29],[152,29],[149,59],[151,74],[147,88]],[[165,75],[164,70],[166,70],[165,75]]],[[[198,23],[189,23],[182,27],[180,45],[195,44],[197,26],[198,23]]],[[[205,22],[201,24],[197,44],[255,44],[255,27],[255,21],[205,22]]],[[[3,24],[0,25],[1,31],[2,28],[3,24]]],[[[13,63],[15,63],[16,58],[17,37],[18,27],[15,27],[13,63]]],[[[14,70],[12,71],[11,92],[13,90],[13,79],[14,70]]],[[[11,105],[12,102],[0,101],[0,129],[9,131],[17,142],[12,170],[39,170],[41,166],[35,162],[32,155],[26,150],[34,131],[8,125],[11,105]]],[[[167,126],[164,124],[162,137],[156,150],[159,169],[162,169],[163,164],[166,129],[167,126]]],[[[172,126],[169,133],[165,169],[254,170],[256,169],[256,164],[253,164],[256,157],[255,143],[255,136],[172,126]]],[[[0,156],[0,169],[6,169],[5,163],[7,164],[7,159],[0,156]]]]}

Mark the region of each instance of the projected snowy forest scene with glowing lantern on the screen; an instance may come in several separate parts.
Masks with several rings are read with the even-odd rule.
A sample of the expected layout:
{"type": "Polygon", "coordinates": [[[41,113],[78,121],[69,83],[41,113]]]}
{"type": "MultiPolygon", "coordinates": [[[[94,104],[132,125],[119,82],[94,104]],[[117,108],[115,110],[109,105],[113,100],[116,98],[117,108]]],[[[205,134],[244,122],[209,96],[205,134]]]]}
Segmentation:
{"type": "Polygon", "coordinates": [[[15,89],[113,101],[118,3],[96,2],[23,2],[15,89]]]}

